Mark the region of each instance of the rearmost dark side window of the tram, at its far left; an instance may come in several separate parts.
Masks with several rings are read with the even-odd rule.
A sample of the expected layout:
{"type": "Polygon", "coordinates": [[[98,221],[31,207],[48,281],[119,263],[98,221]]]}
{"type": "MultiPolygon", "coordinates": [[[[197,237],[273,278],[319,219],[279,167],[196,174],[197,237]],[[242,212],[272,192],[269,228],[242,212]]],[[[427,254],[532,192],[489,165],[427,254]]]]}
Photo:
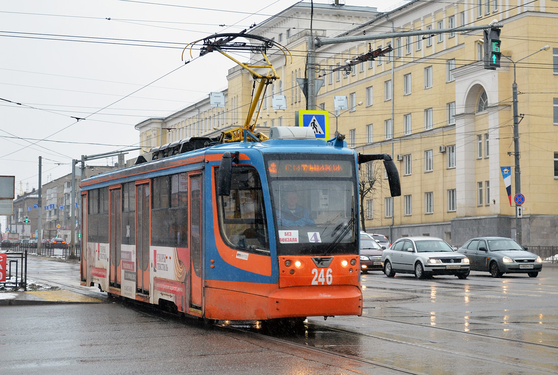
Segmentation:
{"type": "Polygon", "coordinates": [[[89,242],[108,243],[108,188],[89,191],[87,234],[89,242]]]}

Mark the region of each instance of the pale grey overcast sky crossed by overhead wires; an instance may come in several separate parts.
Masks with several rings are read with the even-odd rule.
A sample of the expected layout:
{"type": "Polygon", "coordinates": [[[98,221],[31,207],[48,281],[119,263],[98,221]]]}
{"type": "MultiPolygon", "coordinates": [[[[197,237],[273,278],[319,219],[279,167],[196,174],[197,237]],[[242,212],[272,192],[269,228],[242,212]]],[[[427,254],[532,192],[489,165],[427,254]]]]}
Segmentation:
{"type": "MultiPolygon", "coordinates": [[[[239,32],[295,3],[2,1],[0,175],[16,176],[17,195],[38,188],[39,156],[45,184],[71,173],[71,160],[81,155],[138,147],[134,125],[227,87],[233,63],[210,54],[184,65],[186,44],[239,32]]],[[[345,3],[385,11],[401,1],[345,3]]]]}

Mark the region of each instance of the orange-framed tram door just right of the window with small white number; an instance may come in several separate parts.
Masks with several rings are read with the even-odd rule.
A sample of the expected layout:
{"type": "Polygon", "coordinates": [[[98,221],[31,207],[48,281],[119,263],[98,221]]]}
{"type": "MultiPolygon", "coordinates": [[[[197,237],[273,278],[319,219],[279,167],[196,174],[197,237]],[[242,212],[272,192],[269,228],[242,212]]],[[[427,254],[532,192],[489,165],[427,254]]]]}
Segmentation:
{"type": "Polygon", "coordinates": [[[136,185],[136,282],[137,292],[149,294],[149,230],[150,230],[149,181],[136,185]]]}

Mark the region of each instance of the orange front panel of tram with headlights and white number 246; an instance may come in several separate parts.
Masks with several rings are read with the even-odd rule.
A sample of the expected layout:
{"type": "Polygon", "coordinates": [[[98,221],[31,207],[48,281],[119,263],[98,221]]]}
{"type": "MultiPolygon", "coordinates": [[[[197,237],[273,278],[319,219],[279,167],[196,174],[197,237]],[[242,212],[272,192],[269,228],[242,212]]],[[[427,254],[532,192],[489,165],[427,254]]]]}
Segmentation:
{"type": "MultiPolygon", "coordinates": [[[[358,255],[336,255],[328,267],[317,267],[312,261],[315,256],[280,256],[279,257],[279,286],[331,286],[353,285],[359,286],[358,255]],[[355,264],[351,265],[351,261],[355,264]],[[288,265],[290,262],[290,265],[288,265]],[[300,266],[297,266],[300,262],[300,266]],[[343,262],[347,265],[344,266],[343,262]]],[[[323,257],[326,258],[326,257],[323,257]]]]}

